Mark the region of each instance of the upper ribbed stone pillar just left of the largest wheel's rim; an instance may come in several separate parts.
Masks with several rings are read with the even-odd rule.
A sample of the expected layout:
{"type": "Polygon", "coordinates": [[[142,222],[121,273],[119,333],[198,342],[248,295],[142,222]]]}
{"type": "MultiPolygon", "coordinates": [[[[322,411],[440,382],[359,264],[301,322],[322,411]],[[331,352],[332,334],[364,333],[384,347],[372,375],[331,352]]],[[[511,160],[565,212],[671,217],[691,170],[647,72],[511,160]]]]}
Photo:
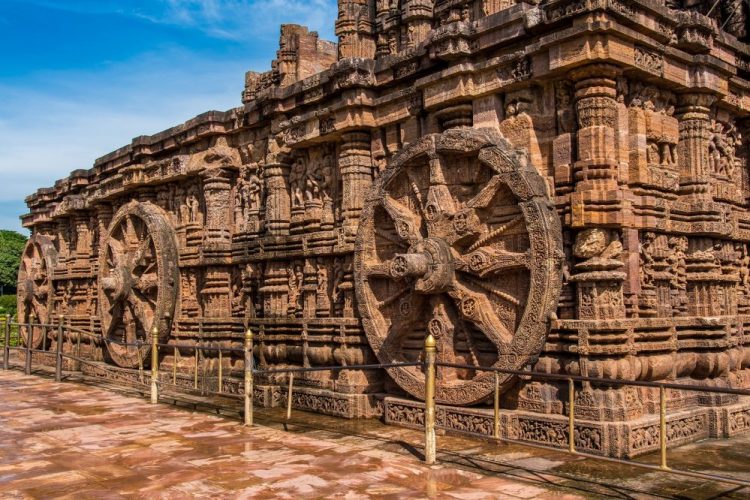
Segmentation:
{"type": "Polygon", "coordinates": [[[367,191],[372,184],[372,153],[369,131],[342,134],[339,169],[342,180],[341,213],[344,226],[356,230],[367,191]]]}

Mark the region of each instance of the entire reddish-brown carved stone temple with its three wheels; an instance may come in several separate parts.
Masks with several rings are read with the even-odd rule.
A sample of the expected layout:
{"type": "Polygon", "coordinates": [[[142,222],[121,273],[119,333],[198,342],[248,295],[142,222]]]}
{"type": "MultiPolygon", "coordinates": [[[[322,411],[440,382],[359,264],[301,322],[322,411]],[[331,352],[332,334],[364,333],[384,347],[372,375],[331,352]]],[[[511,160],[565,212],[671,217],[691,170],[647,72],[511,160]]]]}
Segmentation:
{"type": "MultiPolygon", "coordinates": [[[[27,198],[21,320],[241,348],[260,367],[438,360],[750,388],[750,47],[741,0],[339,0],[281,27],[240,106],[141,136],[27,198]]],[[[238,75],[239,76],[239,75],[238,75]]],[[[35,329],[33,344],[54,349],[35,329]]],[[[74,348],[74,340],[63,347],[74,348]]],[[[241,390],[241,354],[185,347],[241,390]],[[235,380],[233,382],[233,380],[235,380]]],[[[438,425],[492,433],[494,377],[441,368],[438,425]]],[[[285,375],[256,380],[283,404],[285,375]]],[[[420,425],[420,368],[314,372],[296,408],[420,425]]],[[[565,446],[567,385],[503,377],[502,435],[565,446]]],[[[750,401],[669,391],[670,445],[750,401]]],[[[658,390],[575,387],[578,449],[658,443],[658,390]]]]}

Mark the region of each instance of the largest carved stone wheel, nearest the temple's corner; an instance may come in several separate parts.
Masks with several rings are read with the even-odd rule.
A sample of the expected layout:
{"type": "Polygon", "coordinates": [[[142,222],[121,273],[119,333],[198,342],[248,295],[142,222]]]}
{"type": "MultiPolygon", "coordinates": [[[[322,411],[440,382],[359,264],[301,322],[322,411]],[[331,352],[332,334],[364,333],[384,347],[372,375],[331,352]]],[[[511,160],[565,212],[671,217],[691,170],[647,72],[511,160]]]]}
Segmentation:
{"type": "MultiPolygon", "coordinates": [[[[486,131],[424,137],[392,159],[362,212],[355,282],[370,346],[382,363],[420,361],[429,332],[438,361],[523,368],[544,344],[562,256],[559,218],[524,154],[486,131]]],[[[389,374],[424,399],[421,367],[389,374]]],[[[438,370],[440,403],[493,389],[491,372],[438,370]]]]}

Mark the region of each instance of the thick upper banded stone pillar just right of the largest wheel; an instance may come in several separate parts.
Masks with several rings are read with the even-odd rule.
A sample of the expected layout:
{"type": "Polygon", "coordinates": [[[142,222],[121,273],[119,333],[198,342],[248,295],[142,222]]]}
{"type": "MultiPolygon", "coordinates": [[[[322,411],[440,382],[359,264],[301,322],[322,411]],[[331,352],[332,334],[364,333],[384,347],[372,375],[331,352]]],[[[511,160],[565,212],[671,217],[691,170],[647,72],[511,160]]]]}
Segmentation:
{"type": "Polygon", "coordinates": [[[574,70],[578,116],[578,160],[574,165],[576,191],[617,188],[615,150],[617,82],[619,70],[610,64],[593,64],[574,70]]]}

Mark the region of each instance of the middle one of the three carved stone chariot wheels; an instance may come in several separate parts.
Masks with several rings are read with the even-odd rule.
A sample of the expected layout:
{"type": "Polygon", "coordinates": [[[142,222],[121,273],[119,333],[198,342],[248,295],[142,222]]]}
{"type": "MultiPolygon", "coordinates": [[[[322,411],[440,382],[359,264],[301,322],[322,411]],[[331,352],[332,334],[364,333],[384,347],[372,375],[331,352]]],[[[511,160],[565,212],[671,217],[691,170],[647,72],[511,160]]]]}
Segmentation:
{"type": "MultiPolygon", "coordinates": [[[[99,254],[99,315],[102,335],[129,344],[140,340],[140,357],[148,363],[150,332],[159,327],[169,338],[177,299],[177,244],[163,210],[132,201],[112,218],[99,254]]],[[[138,348],[107,343],[118,366],[138,366],[138,348]]]]}

